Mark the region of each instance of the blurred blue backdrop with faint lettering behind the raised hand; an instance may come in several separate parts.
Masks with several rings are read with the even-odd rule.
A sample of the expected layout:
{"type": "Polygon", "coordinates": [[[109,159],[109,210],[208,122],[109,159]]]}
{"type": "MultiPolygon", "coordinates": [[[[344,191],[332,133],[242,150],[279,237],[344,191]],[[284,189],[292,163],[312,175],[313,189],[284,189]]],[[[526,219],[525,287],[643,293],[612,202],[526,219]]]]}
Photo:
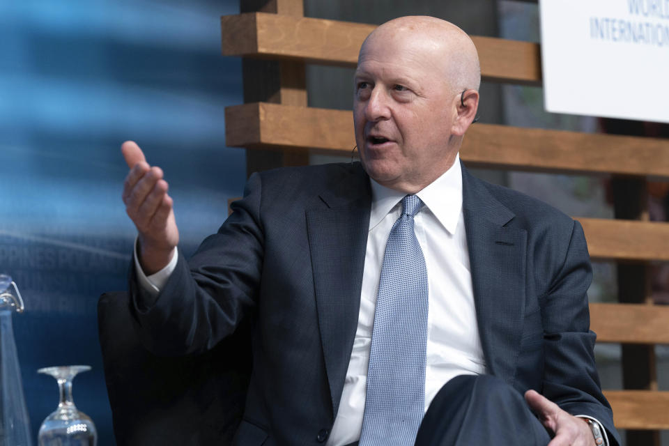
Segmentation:
{"type": "Polygon", "coordinates": [[[242,194],[244,153],[224,146],[240,61],[220,55],[219,17],[235,13],[236,0],[0,2],[0,272],[26,304],[14,330],[35,438],[57,403],[36,370],[90,364],[75,403],[114,444],[95,306],[127,288],[121,143],[163,167],[185,254],[242,194]]]}

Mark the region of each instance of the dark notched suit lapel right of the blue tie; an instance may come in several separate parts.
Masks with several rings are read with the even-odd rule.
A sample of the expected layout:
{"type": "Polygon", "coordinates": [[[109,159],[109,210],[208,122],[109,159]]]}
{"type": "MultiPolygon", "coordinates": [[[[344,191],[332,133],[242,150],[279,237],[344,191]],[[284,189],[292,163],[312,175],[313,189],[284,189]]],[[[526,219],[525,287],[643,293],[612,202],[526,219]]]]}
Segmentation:
{"type": "Polygon", "coordinates": [[[527,232],[463,167],[463,212],[474,302],[489,374],[511,383],[523,334],[527,232]]]}

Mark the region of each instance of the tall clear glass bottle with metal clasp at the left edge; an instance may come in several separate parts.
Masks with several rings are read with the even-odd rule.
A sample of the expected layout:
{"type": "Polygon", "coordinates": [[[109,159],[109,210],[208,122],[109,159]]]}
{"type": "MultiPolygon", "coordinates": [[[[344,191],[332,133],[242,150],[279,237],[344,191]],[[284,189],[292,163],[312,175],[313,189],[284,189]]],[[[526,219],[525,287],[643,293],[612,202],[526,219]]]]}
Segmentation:
{"type": "Polygon", "coordinates": [[[32,445],[12,328],[12,314],[23,310],[18,287],[11,277],[0,274],[0,446],[32,445]]]}

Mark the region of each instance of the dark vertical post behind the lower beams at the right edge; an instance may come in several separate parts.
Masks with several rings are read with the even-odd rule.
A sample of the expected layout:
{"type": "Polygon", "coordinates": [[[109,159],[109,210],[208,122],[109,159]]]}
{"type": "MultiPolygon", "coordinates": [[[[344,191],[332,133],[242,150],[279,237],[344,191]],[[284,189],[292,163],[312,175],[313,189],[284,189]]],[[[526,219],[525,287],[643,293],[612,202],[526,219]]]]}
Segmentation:
{"type": "MultiPolygon", "coordinates": [[[[624,220],[649,220],[645,178],[611,180],[615,217],[624,220]]],[[[650,271],[647,263],[618,264],[618,300],[653,305],[650,298],[650,271]]],[[[625,389],[657,390],[654,346],[623,344],[622,380],[625,389]]],[[[615,418],[615,414],[613,414],[615,418]]],[[[659,446],[659,431],[626,432],[628,445],[659,446]]]]}

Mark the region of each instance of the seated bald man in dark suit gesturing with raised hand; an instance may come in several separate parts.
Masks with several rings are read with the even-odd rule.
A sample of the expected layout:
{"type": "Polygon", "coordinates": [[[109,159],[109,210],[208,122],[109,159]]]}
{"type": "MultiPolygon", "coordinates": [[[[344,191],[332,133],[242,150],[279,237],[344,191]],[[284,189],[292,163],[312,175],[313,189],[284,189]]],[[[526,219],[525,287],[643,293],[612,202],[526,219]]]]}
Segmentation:
{"type": "Polygon", "coordinates": [[[254,174],[189,261],[162,171],[123,144],[144,345],[204,351],[255,321],[237,444],[617,444],[580,225],[459,162],[479,82],[456,26],[383,24],[355,74],[362,163],[254,174]]]}

